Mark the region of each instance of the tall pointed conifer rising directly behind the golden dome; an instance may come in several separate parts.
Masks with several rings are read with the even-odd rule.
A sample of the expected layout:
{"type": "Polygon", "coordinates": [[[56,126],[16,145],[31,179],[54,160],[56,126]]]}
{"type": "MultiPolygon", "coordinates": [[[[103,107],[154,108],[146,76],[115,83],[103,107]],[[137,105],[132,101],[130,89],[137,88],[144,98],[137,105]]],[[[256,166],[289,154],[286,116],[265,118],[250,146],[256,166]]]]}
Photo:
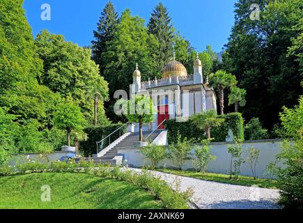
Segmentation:
{"type": "Polygon", "coordinates": [[[153,10],[148,22],[148,32],[153,34],[159,46],[155,54],[157,55],[157,72],[161,74],[162,69],[170,61],[173,52],[174,29],[171,24],[171,17],[167,8],[159,3],[153,10]]]}

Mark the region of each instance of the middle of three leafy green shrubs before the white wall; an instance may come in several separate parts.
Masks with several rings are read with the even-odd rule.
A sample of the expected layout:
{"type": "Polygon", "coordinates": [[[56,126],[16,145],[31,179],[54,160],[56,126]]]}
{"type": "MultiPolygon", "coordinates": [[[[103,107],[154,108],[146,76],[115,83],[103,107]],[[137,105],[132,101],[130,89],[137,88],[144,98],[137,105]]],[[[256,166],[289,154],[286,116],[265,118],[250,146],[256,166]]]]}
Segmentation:
{"type": "Polygon", "coordinates": [[[178,169],[182,169],[182,165],[186,160],[192,159],[191,143],[192,141],[187,140],[186,137],[181,139],[181,135],[178,133],[176,143],[169,145],[168,157],[178,169]]]}

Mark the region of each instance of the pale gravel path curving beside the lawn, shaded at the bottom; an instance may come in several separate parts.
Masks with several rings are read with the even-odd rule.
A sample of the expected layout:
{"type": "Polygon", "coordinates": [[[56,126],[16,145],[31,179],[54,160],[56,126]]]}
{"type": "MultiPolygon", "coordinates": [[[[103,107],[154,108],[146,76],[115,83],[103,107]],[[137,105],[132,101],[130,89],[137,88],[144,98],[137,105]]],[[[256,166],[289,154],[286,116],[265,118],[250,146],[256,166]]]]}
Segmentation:
{"type": "MultiPolygon", "coordinates": [[[[141,171],[141,169],[133,169],[141,171]]],[[[279,190],[230,185],[207,180],[199,180],[184,176],[166,174],[153,171],[176,189],[176,182],[180,183],[180,190],[188,188],[194,191],[192,201],[201,209],[277,209],[279,190]]]]}

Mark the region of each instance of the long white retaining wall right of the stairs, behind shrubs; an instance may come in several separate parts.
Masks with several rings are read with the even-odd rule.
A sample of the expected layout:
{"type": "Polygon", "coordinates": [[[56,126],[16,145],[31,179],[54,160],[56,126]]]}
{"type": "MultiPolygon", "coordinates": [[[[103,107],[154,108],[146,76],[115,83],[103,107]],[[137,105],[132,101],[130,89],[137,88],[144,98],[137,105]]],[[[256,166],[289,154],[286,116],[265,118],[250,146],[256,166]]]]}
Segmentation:
{"type": "MultiPolygon", "coordinates": [[[[255,141],[244,141],[243,144],[243,158],[246,160],[248,150],[251,146],[260,150],[260,156],[256,167],[256,173],[259,178],[266,178],[268,175],[264,174],[267,170],[267,164],[276,160],[276,155],[281,152],[281,144],[283,143],[280,139],[266,139],[266,140],[255,140],[255,141]]],[[[228,174],[230,167],[231,155],[228,153],[228,145],[233,142],[220,142],[212,143],[212,155],[215,155],[217,159],[210,162],[208,165],[208,171],[212,173],[228,174]]],[[[124,159],[127,160],[127,164],[134,167],[148,166],[149,162],[146,158],[138,152],[139,149],[121,149],[118,150],[119,155],[123,155],[124,159]]],[[[194,148],[192,149],[192,157],[194,157],[194,148]]],[[[173,167],[170,160],[164,160],[160,162],[159,167],[173,167]]],[[[283,164],[278,163],[277,167],[283,167],[283,164]]],[[[192,169],[192,160],[188,160],[183,165],[182,169],[192,169]]],[[[249,163],[245,162],[241,166],[241,175],[252,176],[249,163]]]]}

